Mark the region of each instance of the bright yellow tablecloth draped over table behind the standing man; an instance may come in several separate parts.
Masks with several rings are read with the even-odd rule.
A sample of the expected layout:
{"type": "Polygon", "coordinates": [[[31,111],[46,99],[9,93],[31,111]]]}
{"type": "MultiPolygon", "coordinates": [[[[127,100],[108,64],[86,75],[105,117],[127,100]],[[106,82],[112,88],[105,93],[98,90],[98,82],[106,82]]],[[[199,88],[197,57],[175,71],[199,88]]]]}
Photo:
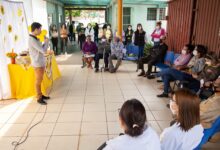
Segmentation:
{"type": "MultiPolygon", "coordinates": [[[[35,73],[34,68],[29,67],[25,70],[21,65],[8,65],[10,82],[11,82],[11,98],[23,99],[36,95],[35,91],[35,73]]],[[[52,57],[52,74],[53,81],[61,76],[55,57],[52,57]]],[[[52,85],[52,80],[44,74],[41,89],[46,94],[47,89],[52,85]]]]}

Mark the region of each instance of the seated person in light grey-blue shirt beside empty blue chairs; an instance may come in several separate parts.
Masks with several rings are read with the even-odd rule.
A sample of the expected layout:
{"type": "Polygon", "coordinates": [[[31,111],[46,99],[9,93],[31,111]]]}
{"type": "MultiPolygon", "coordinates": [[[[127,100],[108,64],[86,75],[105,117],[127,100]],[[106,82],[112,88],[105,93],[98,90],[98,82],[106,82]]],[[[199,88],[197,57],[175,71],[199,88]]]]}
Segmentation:
{"type": "Polygon", "coordinates": [[[123,58],[123,48],[124,45],[120,41],[119,37],[114,38],[114,42],[111,43],[111,55],[109,57],[109,72],[114,73],[117,71],[118,67],[121,64],[122,58],[123,58]],[[114,67],[113,65],[113,59],[117,59],[117,63],[114,67]]]}

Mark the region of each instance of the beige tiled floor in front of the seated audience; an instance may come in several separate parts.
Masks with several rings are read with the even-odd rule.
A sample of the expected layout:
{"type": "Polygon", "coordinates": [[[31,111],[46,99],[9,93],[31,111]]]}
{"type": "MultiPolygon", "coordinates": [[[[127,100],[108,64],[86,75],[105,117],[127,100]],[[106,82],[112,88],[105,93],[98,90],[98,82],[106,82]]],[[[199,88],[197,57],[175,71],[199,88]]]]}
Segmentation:
{"type": "Polygon", "coordinates": [[[13,149],[12,141],[21,140],[27,129],[41,120],[45,110],[43,122],[31,130],[19,150],[96,150],[122,132],[118,108],[130,98],[142,101],[148,123],[158,134],[169,126],[172,118],[165,106],[168,99],[156,98],[161,92],[157,89],[159,84],[137,77],[135,64],[124,62],[115,74],[96,74],[81,69],[80,63],[59,67],[62,78],[54,83],[47,110],[32,98],[0,102],[1,150],[13,149]]]}

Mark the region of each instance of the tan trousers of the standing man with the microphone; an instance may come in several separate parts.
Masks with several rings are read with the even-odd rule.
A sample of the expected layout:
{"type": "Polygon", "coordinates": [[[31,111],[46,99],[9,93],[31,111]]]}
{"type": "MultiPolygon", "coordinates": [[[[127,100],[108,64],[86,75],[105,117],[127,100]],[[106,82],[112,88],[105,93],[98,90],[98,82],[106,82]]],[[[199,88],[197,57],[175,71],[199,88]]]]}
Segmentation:
{"type": "Polygon", "coordinates": [[[37,93],[37,99],[42,98],[42,92],[41,92],[41,83],[43,81],[43,76],[44,76],[44,67],[37,67],[34,68],[35,72],[35,88],[36,88],[36,93],[37,93]]]}

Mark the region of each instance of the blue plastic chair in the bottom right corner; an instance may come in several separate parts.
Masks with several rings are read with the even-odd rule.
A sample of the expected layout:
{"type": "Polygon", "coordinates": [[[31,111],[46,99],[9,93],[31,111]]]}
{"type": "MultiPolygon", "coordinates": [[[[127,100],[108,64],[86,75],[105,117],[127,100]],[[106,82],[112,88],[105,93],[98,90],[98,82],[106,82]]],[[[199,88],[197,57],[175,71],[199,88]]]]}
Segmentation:
{"type": "Polygon", "coordinates": [[[200,144],[194,150],[201,150],[202,146],[217,132],[220,132],[220,116],[215,120],[212,127],[203,131],[204,136],[200,144]]]}

